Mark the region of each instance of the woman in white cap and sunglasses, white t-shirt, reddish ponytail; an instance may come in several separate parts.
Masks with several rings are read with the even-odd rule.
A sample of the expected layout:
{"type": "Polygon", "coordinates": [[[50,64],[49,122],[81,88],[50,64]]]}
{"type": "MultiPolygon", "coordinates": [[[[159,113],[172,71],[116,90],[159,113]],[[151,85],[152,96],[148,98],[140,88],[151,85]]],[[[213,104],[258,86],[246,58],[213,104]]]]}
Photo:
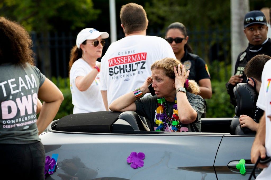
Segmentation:
{"type": "Polygon", "coordinates": [[[100,86],[100,62],[107,32],[93,28],[81,30],[72,48],[69,62],[73,114],[105,111],[100,86]]]}

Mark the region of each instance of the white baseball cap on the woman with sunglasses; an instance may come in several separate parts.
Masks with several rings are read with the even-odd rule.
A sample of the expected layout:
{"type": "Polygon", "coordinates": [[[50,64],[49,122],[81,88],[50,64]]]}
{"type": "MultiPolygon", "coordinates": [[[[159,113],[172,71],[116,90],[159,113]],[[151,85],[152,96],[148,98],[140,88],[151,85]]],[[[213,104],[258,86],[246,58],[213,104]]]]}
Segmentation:
{"type": "Polygon", "coordinates": [[[102,39],[106,39],[109,37],[109,34],[107,32],[99,32],[96,29],[93,28],[86,28],[81,30],[76,38],[76,46],[78,49],[80,48],[80,45],[85,41],[89,39],[96,39],[99,36],[101,36],[102,39]]]}

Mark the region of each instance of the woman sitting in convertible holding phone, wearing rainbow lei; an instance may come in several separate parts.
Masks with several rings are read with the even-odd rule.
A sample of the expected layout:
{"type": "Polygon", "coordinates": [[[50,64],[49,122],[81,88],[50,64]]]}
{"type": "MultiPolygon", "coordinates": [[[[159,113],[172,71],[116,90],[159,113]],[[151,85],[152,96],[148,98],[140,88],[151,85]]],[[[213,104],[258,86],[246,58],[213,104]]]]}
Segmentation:
{"type": "Polygon", "coordinates": [[[204,100],[198,95],[198,84],[188,81],[188,75],[180,61],[158,60],[151,65],[151,76],[143,85],[116,99],[109,109],[135,111],[150,120],[153,131],[201,132],[204,100]],[[144,96],[151,87],[155,95],[144,96]]]}

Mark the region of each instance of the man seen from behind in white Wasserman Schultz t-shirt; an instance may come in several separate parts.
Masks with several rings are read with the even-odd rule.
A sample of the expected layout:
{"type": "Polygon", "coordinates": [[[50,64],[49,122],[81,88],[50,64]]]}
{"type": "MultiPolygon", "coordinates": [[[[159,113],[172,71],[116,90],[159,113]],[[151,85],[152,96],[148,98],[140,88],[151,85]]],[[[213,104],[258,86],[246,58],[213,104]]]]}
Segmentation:
{"type": "Polygon", "coordinates": [[[101,60],[101,92],[107,110],[112,101],[144,83],[155,61],[176,59],[165,39],[146,36],[149,21],[141,5],[123,5],[120,18],[125,38],[111,43],[101,60]]]}

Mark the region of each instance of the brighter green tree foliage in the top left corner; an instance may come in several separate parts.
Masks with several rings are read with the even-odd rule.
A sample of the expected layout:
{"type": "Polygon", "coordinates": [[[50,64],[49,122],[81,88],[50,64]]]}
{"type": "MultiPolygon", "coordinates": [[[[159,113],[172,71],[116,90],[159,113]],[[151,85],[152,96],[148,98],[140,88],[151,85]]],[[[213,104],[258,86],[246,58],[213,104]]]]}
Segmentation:
{"type": "Polygon", "coordinates": [[[101,13],[92,0],[3,0],[0,9],[1,16],[36,32],[82,28],[101,13]]]}

